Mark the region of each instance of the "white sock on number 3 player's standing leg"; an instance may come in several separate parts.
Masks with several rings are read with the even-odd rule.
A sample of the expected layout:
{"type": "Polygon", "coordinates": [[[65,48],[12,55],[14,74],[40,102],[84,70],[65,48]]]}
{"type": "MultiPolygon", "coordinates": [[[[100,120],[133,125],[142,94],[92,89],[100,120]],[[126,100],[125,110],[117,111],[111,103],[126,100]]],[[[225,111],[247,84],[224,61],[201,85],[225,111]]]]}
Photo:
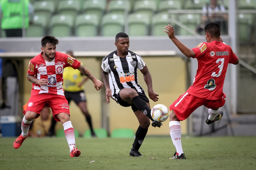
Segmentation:
{"type": "Polygon", "coordinates": [[[176,148],[176,152],[178,156],[183,153],[182,145],[181,145],[181,122],[179,121],[170,121],[170,135],[173,145],[176,148]]]}

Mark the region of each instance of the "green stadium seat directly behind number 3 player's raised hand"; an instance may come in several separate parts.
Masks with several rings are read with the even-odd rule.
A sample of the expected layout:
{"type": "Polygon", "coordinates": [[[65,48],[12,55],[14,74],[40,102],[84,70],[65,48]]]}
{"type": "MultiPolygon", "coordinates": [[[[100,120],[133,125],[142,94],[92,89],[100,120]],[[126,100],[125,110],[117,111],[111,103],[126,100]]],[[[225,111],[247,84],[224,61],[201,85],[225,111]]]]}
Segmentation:
{"type": "MultiPolygon", "coordinates": [[[[164,32],[164,27],[166,25],[170,24],[170,18],[168,16],[167,12],[157,13],[152,17],[152,30],[151,35],[152,36],[167,36],[167,34],[164,32]]],[[[171,24],[174,26],[173,24],[171,24]]],[[[174,28],[174,30],[176,30],[174,28]]]]}

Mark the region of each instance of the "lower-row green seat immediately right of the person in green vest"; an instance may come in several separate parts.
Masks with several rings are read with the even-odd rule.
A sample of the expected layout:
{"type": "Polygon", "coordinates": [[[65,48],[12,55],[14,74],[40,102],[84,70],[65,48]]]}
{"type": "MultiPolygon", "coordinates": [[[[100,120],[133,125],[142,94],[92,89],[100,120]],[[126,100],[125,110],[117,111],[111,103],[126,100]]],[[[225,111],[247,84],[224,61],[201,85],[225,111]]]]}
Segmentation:
{"type": "Polygon", "coordinates": [[[46,34],[47,18],[44,15],[34,15],[33,24],[26,29],[26,37],[43,37],[46,34]]]}

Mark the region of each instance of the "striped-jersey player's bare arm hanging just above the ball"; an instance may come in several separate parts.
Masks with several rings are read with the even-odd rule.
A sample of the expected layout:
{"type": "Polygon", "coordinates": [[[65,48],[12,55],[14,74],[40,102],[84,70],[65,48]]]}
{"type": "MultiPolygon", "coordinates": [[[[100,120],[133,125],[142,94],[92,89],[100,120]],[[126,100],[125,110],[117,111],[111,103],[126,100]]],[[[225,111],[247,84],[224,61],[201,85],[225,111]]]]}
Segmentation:
{"type": "Polygon", "coordinates": [[[159,96],[159,94],[157,94],[156,92],[153,91],[152,77],[151,77],[148,67],[145,66],[143,69],[140,70],[140,72],[143,74],[144,81],[148,87],[149,98],[151,100],[153,100],[154,102],[158,101],[159,98],[157,96],[159,96]]]}

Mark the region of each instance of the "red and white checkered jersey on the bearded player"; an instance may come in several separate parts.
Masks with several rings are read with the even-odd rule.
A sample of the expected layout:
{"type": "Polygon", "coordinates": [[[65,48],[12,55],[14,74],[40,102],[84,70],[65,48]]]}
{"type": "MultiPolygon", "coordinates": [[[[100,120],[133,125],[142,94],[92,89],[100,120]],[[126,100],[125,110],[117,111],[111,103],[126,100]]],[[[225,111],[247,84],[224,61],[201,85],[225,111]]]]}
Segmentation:
{"type": "Polygon", "coordinates": [[[35,56],[29,61],[28,74],[35,75],[37,79],[47,79],[46,86],[32,84],[31,96],[41,93],[51,93],[64,96],[63,86],[63,69],[72,67],[77,69],[80,62],[70,55],[57,52],[55,58],[48,62],[42,57],[42,53],[35,56]]]}

